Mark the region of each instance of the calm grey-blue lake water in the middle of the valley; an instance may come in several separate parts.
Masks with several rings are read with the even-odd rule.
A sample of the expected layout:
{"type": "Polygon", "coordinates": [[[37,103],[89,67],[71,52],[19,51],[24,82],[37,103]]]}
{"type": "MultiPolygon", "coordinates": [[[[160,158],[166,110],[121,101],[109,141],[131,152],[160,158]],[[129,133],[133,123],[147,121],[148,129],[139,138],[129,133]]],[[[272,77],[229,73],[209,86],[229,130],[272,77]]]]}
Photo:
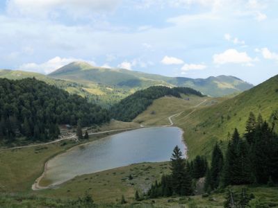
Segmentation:
{"type": "Polygon", "coordinates": [[[88,144],[71,148],[50,159],[44,179],[49,185],[63,183],[87,173],[140,162],[170,160],[175,146],[186,154],[182,131],[177,127],[140,128],[111,135],[88,144]]]}

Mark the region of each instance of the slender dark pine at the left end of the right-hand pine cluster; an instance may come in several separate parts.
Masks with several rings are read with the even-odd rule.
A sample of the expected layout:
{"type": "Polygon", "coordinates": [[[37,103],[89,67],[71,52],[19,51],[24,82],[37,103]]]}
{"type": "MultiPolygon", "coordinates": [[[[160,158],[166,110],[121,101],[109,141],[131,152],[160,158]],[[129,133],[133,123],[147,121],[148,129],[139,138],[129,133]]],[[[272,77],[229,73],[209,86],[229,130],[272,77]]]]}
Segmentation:
{"type": "Polygon", "coordinates": [[[211,158],[211,189],[216,189],[220,184],[220,176],[222,173],[222,168],[224,165],[223,154],[218,146],[218,143],[215,144],[213,148],[213,154],[211,158]]]}

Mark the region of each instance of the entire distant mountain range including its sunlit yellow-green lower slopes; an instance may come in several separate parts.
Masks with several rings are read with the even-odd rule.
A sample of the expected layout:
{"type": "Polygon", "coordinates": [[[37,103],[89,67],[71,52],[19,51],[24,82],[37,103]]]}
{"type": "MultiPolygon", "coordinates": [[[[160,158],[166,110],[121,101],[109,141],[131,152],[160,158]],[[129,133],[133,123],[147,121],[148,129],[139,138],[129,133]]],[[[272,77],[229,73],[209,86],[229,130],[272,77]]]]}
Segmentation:
{"type": "Polygon", "coordinates": [[[33,77],[72,94],[86,96],[90,101],[107,107],[139,89],[154,85],[191,87],[208,96],[238,94],[253,87],[250,83],[234,76],[211,76],[205,79],[167,77],[127,69],[93,67],[87,62],[72,62],[48,75],[28,71],[0,70],[0,78],[33,77]]]}

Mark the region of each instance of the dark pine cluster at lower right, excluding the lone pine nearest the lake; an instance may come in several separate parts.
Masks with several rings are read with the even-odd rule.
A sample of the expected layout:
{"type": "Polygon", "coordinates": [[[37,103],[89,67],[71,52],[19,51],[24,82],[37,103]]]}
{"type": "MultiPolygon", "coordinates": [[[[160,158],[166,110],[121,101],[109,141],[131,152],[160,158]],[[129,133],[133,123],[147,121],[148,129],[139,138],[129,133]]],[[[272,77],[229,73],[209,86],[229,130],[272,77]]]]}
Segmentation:
{"type": "Polygon", "coordinates": [[[225,187],[277,183],[278,135],[273,131],[274,125],[263,121],[261,115],[256,119],[251,112],[243,137],[234,130],[225,160],[218,145],[215,146],[211,169],[206,176],[206,189],[216,189],[220,184],[225,187]]]}

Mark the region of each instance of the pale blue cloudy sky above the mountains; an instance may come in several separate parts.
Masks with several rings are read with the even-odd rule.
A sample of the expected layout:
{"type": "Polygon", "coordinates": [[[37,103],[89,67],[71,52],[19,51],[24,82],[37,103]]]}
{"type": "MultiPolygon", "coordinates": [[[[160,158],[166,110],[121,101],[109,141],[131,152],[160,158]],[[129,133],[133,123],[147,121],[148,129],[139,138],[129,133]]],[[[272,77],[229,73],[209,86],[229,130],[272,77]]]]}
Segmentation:
{"type": "Polygon", "coordinates": [[[165,76],[278,74],[276,0],[2,0],[0,69],[85,61],[165,76]]]}

